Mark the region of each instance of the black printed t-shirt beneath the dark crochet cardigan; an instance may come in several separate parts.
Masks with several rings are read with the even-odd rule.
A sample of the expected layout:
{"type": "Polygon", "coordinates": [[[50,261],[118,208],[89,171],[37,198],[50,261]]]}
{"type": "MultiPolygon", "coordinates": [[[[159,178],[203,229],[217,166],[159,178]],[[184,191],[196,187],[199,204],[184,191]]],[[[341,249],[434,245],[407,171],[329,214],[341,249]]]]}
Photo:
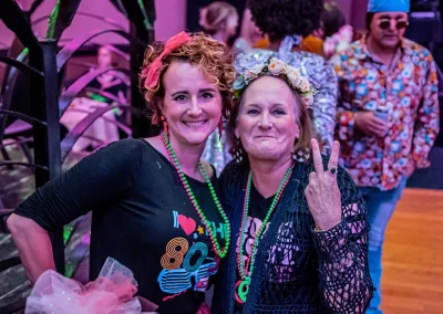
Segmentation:
{"type": "MultiPolygon", "coordinates": [[[[245,265],[246,259],[250,255],[253,251],[254,240],[257,238],[257,233],[261,228],[262,221],[266,218],[266,214],[269,211],[270,206],[272,205],[274,196],[269,198],[264,198],[254,184],[250,187],[250,198],[249,198],[249,209],[248,209],[248,220],[246,222],[246,232],[243,242],[243,257],[241,263],[245,265]]],[[[269,221],[268,221],[269,226],[269,221]]],[[[265,232],[264,232],[265,233],[265,232]]],[[[237,248],[238,253],[238,248],[237,248]]],[[[239,270],[237,269],[237,281],[240,281],[239,270]]],[[[236,286],[237,289],[237,286],[236,286]]],[[[237,293],[237,291],[236,291],[237,293]]],[[[243,304],[237,302],[235,303],[236,313],[243,312],[243,304]]]]}

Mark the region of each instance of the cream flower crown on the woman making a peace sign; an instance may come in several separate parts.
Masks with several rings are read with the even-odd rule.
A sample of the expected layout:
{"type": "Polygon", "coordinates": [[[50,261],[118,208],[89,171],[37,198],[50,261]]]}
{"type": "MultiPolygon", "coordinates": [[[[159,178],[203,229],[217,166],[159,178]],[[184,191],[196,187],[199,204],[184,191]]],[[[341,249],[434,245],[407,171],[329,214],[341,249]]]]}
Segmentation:
{"type": "Polygon", "coordinates": [[[305,106],[307,108],[312,108],[316,90],[303,75],[302,69],[289,65],[275,56],[270,57],[270,60],[265,63],[255,65],[237,76],[233,86],[234,98],[239,100],[250,83],[266,75],[284,78],[289,86],[300,95],[305,106]]]}

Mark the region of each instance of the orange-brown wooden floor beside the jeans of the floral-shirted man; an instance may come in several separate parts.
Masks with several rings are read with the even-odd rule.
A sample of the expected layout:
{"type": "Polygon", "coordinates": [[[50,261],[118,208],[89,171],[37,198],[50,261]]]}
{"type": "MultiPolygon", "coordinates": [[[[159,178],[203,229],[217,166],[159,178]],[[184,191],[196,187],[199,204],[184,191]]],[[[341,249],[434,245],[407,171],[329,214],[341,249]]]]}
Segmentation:
{"type": "Polygon", "coordinates": [[[443,313],[443,190],[404,190],[383,264],[384,313],[443,313]]]}

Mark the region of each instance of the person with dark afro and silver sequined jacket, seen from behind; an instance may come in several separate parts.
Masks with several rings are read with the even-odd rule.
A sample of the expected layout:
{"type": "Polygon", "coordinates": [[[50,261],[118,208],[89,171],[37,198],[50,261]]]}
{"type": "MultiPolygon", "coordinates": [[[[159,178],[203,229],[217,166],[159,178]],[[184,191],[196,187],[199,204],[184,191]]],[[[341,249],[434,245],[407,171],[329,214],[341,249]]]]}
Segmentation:
{"type": "Polygon", "coordinates": [[[337,76],[333,67],[320,55],[302,51],[302,36],[320,28],[322,0],[250,0],[253,20],[269,35],[270,44],[236,56],[238,73],[254,71],[271,55],[305,72],[316,88],[313,95],[313,127],[326,150],[332,147],[336,126],[337,76]]]}

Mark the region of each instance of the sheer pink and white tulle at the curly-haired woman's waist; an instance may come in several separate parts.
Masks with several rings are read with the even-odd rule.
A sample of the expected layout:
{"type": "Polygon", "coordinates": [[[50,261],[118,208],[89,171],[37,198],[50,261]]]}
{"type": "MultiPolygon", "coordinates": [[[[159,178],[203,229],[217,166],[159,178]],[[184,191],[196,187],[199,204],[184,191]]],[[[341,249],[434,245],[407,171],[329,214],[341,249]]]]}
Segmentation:
{"type": "MultiPolygon", "coordinates": [[[[25,314],[141,314],[132,271],[107,258],[99,278],[86,285],[45,271],[27,300],[25,314]]],[[[151,312],[152,313],[152,312],[151,312]]]]}

